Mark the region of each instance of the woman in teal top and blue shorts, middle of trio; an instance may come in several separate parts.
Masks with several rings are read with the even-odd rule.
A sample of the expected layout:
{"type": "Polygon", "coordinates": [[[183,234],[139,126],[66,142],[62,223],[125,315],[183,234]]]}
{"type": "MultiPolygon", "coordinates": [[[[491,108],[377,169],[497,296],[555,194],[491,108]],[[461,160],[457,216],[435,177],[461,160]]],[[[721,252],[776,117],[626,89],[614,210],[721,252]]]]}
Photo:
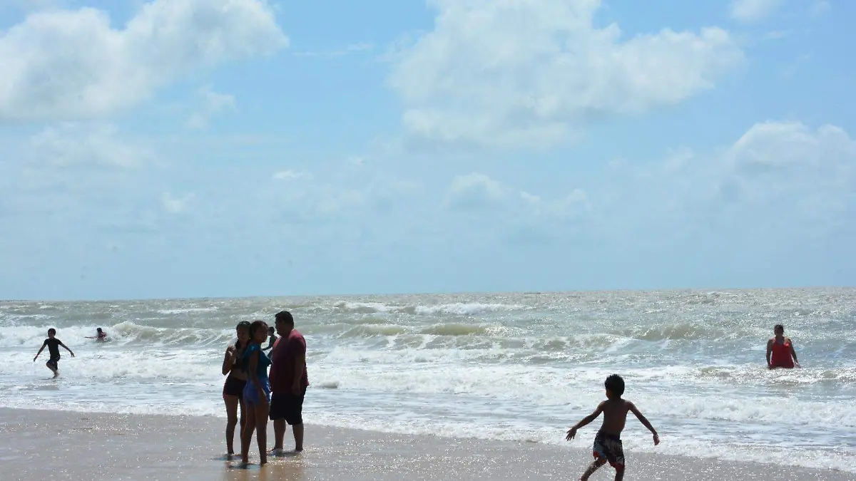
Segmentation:
{"type": "Polygon", "coordinates": [[[262,342],[267,339],[265,321],[253,321],[250,324],[250,343],[242,356],[247,371],[247,384],[244,386],[244,406],[247,416],[241,431],[241,461],[249,462],[250,442],[256,431],[256,443],[259,445],[259,466],[267,463],[267,417],[270,410],[270,382],[267,367],[270,359],[262,351],[262,342]]]}

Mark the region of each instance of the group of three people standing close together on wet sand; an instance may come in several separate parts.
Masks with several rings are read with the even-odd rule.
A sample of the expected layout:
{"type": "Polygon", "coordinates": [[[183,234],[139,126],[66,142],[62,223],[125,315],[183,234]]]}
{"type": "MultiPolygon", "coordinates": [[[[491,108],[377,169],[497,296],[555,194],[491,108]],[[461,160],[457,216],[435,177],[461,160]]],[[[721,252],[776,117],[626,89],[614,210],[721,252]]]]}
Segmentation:
{"type": "Polygon", "coordinates": [[[286,424],[294,432],[294,450],[303,450],[303,399],[306,374],[306,339],[294,329],[288,311],[277,312],[276,334],[265,321],[243,321],[235,327],[238,340],[226,348],[223,358],[223,401],[226,404],[226,448],[235,454],[235,427],[241,425],[241,461],[248,462],[253,431],[259,444],[259,464],[267,462],[267,421],[273,421],[272,455],[282,454],[286,424]],[[262,343],[268,340],[268,347],[262,343]],[[270,349],[270,356],[265,353],[270,349]],[[268,373],[270,366],[270,374],[268,373]],[[239,418],[238,410],[241,410],[239,418]]]}

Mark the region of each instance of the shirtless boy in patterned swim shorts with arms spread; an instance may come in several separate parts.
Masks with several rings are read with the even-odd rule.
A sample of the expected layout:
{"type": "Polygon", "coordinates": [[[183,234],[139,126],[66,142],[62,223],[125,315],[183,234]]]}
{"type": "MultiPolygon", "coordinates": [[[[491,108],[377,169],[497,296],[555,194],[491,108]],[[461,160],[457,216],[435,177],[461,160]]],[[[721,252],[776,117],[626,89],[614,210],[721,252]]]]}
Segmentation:
{"type": "Polygon", "coordinates": [[[583,473],[580,481],[586,481],[592,473],[597,471],[597,468],[606,464],[607,461],[615,468],[615,481],[621,481],[624,478],[624,450],[621,448],[621,431],[624,430],[624,425],[627,423],[628,411],[635,414],[639,418],[639,422],[654,434],[654,445],[660,443],[660,437],[657,436],[657,431],[654,430],[648,419],[639,413],[639,409],[633,406],[632,402],[621,399],[621,395],[624,394],[624,379],[613,374],[606,378],[603,386],[606,388],[608,399],[597,405],[594,413],[589,414],[569,429],[568,436],[565,437],[568,441],[574,439],[577,430],[591,423],[597,419],[600,413],[603,413],[603,425],[600,426],[600,431],[597,431],[594,436],[594,448],[592,449],[594,462],[583,473]]]}

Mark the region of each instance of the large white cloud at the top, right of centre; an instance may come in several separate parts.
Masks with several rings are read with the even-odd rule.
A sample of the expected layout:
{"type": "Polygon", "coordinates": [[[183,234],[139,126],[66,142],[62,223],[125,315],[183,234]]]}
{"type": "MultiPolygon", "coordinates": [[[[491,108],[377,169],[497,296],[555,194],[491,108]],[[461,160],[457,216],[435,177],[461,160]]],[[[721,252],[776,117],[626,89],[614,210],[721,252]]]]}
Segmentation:
{"type": "Polygon", "coordinates": [[[394,56],[409,134],[550,145],[592,118],[678,104],[743,61],[720,28],[622,39],[598,0],[431,0],[434,29],[394,56]]]}

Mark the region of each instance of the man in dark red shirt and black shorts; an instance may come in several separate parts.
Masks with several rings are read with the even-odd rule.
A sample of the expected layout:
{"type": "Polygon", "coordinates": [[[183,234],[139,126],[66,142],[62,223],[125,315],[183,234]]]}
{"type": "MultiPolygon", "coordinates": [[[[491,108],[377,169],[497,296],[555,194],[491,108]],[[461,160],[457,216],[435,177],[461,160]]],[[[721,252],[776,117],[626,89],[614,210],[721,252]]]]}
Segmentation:
{"type": "Polygon", "coordinates": [[[294,329],[291,312],[276,313],[279,339],[270,349],[270,420],[273,421],[273,453],[282,453],[285,424],[294,431],[294,451],[303,450],[303,397],[309,378],[306,375],[306,339],[294,329]]]}

